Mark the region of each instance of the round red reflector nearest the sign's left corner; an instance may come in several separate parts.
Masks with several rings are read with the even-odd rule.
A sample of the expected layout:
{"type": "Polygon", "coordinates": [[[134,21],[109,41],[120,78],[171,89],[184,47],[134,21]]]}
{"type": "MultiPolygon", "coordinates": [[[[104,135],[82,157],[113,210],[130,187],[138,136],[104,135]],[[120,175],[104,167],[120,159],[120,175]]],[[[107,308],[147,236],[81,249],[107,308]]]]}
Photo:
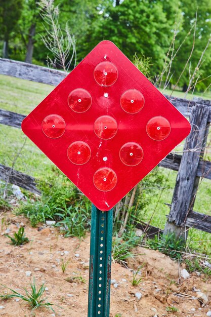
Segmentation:
{"type": "Polygon", "coordinates": [[[47,115],[42,122],[42,130],[49,138],[56,139],[65,132],[66,124],[58,114],[47,115]]]}

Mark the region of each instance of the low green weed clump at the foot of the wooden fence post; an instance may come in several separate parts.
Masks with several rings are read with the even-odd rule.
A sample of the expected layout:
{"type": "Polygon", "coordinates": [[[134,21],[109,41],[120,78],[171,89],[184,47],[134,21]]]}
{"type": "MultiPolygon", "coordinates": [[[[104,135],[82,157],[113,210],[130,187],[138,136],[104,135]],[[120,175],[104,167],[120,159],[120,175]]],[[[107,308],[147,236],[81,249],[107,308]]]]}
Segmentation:
{"type": "Polygon", "coordinates": [[[181,259],[181,252],[185,250],[184,239],[177,237],[174,232],[161,236],[155,235],[154,239],[148,239],[146,244],[150,249],[158,250],[173,259],[181,259]]]}

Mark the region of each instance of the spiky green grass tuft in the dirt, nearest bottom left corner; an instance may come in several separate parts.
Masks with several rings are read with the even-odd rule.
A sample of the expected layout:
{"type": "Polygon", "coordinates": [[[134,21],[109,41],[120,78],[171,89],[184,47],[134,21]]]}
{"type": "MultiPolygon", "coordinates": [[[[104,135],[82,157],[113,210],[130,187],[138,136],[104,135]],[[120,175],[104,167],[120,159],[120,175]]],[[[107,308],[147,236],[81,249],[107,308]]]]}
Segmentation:
{"type": "Polygon", "coordinates": [[[40,308],[40,307],[45,307],[45,308],[50,308],[53,312],[53,305],[50,302],[46,302],[46,298],[42,298],[43,294],[45,292],[45,284],[42,284],[40,288],[37,288],[35,285],[35,280],[30,283],[30,291],[28,291],[26,288],[24,288],[25,294],[20,294],[16,292],[15,290],[3,285],[5,288],[10,290],[12,294],[3,294],[0,295],[0,298],[6,300],[6,299],[11,299],[11,298],[20,298],[26,302],[29,303],[30,307],[32,310],[40,308]]]}

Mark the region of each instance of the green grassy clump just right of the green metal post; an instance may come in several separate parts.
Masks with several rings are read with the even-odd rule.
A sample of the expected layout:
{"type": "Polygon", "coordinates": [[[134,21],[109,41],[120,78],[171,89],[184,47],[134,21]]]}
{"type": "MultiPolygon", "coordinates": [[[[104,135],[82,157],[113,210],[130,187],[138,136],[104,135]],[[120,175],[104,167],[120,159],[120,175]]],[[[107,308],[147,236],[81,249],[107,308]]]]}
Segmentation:
{"type": "Polygon", "coordinates": [[[142,238],[136,236],[132,226],[127,228],[121,237],[118,237],[116,233],[112,242],[112,257],[114,261],[125,265],[126,260],[134,256],[132,249],[138,246],[141,241],[142,238]]]}

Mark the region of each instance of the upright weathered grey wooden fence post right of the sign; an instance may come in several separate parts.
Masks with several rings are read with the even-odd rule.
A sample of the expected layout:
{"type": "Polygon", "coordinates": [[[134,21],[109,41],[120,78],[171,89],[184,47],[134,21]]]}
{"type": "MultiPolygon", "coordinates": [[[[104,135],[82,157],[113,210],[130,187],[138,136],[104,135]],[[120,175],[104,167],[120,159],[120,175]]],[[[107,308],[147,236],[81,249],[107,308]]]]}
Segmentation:
{"type": "Polygon", "coordinates": [[[193,209],[196,187],[198,187],[197,168],[199,159],[204,153],[208,115],[209,109],[205,105],[196,103],[192,108],[190,115],[192,131],[186,139],[164,234],[175,232],[176,235],[185,237],[185,233],[188,232],[185,229],[185,221],[188,213],[193,209]]]}

